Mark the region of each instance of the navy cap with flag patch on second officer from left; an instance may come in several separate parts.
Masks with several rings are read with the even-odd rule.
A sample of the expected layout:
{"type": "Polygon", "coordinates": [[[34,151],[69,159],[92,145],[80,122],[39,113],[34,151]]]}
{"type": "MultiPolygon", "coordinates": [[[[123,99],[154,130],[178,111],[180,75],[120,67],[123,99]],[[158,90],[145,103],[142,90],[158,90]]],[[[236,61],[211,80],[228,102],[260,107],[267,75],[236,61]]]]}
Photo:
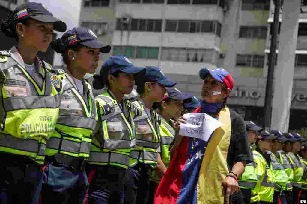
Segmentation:
{"type": "Polygon", "coordinates": [[[102,53],[109,53],[111,46],[100,42],[93,31],[87,28],[73,28],[61,37],[65,47],[82,44],[93,49],[100,49],[102,53]]]}

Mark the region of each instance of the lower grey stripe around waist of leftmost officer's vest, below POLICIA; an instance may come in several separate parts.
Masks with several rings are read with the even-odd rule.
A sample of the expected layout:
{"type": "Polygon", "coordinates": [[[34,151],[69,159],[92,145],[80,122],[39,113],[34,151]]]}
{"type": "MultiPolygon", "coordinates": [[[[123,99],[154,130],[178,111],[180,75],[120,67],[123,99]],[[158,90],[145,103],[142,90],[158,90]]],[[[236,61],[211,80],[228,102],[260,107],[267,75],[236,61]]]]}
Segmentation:
{"type": "Polygon", "coordinates": [[[34,139],[20,139],[0,133],[0,146],[45,155],[46,145],[34,139]]]}

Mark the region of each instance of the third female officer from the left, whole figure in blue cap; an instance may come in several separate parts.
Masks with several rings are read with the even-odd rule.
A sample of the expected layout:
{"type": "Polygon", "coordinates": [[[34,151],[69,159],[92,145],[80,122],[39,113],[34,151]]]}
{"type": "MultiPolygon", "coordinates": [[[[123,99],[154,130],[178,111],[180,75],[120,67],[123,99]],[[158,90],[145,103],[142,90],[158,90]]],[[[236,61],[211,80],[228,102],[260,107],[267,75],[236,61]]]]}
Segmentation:
{"type": "Polygon", "coordinates": [[[122,203],[123,177],[129,166],[129,153],[135,147],[134,122],[141,110],[123,98],[134,87],[134,74],[145,69],[135,67],[126,57],[112,56],[94,75],[93,87],[101,89],[95,98],[99,131],[92,138],[88,166],[90,183],[88,203],[122,203]]]}

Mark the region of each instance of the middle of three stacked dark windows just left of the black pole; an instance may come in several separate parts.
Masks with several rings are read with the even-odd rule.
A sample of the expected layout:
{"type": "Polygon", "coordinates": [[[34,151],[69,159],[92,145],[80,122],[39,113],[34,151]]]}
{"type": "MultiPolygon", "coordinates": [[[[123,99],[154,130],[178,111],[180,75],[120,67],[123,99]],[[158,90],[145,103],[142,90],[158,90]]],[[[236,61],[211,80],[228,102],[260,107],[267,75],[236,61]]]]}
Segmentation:
{"type": "Polygon", "coordinates": [[[240,26],[239,38],[266,39],[267,27],[240,26]]]}

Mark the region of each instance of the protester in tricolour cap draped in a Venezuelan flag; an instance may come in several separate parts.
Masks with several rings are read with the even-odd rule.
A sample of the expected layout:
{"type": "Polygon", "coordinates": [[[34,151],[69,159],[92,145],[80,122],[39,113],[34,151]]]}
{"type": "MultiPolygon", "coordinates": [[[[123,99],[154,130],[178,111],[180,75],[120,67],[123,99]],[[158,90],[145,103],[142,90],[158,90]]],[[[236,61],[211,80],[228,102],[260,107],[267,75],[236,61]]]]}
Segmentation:
{"type": "Polygon", "coordinates": [[[252,162],[243,118],[225,105],[234,85],[232,77],[220,68],[203,68],[199,76],[204,84],[201,107],[195,113],[207,113],[223,126],[213,132],[209,142],[178,137],[155,204],[223,203],[224,197],[229,200],[230,194],[239,190],[238,177],[252,162]]]}

